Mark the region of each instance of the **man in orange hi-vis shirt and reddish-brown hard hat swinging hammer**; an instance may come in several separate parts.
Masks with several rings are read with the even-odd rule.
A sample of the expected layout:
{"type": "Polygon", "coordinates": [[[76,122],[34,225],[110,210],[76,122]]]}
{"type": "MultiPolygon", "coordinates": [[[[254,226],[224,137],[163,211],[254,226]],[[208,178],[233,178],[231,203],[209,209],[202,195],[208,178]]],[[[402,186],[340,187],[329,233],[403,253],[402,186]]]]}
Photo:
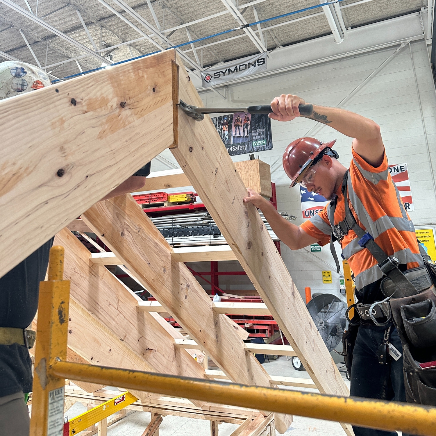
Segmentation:
{"type": "MultiPolygon", "coordinates": [[[[296,95],[280,95],[272,100],[274,112],[269,117],[291,121],[300,116],[300,103],[304,100],[296,95]]],[[[413,223],[388,171],[380,127],[356,113],[317,105],[313,105],[312,115],[307,118],[354,138],[349,168],[339,162],[339,155],[332,149],[336,140],[323,143],[314,138],[300,138],[290,143],[283,155],[283,167],[291,186],[300,183],[331,202],[300,226],[284,219],[269,201],[252,189],[248,190],[249,197],[244,202],[260,208],[272,230],[292,250],[315,242],[325,245],[335,239],[340,241],[343,256],[354,272],[356,296],[362,307],[366,307],[356,332],[354,350],[350,347],[352,355],[348,356],[352,359],[350,395],[405,402],[402,357],[395,360],[385,355],[382,361],[379,359],[381,345],[389,342],[401,354],[402,344],[392,320],[385,317],[384,312],[376,313],[372,306],[385,299],[380,289],[385,275],[381,270],[383,266],[368,249],[368,241],[378,244],[389,256],[386,256],[388,262],[396,264],[399,274],[422,266],[423,259],[413,223]],[[344,220],[346,215],[348,223],[344,220]],[[358,237],[356,232],[364,235],[358,237]],[[372,312],[372,318],[365,312],[368,315],[372,312]]],[[[337,266],[339,268],[338,262],[337,266]]],[[[395,432],[353,428],[356,436],[396,436],[395,432]]]]}

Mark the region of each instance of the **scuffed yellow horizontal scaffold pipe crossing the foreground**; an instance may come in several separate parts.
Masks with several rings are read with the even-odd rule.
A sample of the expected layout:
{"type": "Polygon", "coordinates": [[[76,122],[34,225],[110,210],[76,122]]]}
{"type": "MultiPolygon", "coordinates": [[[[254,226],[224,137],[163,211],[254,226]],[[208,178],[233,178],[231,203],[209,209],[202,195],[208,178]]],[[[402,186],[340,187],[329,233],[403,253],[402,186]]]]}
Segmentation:
{"type": "Polygon", "coordinates": [[[436,436],[436,408],[422,405],[204,381],[60,359],[52,361],[48,373],[61,378],[162,395],[436,436]]]}

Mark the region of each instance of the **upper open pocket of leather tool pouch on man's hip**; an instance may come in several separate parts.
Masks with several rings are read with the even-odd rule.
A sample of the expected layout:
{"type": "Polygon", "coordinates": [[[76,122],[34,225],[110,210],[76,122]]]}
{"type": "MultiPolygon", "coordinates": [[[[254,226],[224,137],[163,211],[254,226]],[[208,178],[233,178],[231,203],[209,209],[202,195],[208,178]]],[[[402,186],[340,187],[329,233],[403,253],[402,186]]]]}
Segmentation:
{"type": "Polygon", "coordinates": [[[436,345],[436,307],[433,300],[404,305],[400,308],[405,334],[418,348],[436,345]]]}

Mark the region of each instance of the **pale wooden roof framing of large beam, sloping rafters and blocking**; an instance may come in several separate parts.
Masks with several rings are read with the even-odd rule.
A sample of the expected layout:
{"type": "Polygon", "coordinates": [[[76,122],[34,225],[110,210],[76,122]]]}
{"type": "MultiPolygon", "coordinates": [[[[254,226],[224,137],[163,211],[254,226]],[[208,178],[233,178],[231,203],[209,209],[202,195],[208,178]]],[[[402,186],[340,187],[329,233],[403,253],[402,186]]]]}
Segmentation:
{"type": "MultiPolygon", "coordinates": [[[[348,395],[259,213],[242,202],[245,184],[215,126],[208,116],[201,122],[186,116],[177,107],[179,99],[202,106],[181,60],[167,50],[0,102],[4,148],[0,276],[57,234],[54,243],[65,247],[65,279],[71,281],[68,358],[348,395]],[[24,117],[28,129],[15,129],[15,120],[24,117]],[[166,148],[182,171],[174,174],[178,177],[174,183],[189,181],[228,247],[172,249],[131,195],[99,202],[166,148]],[[79,215],[82,220],[75,219],[79,215]],[[94,232],[112,253],[91,254],[71,230],[94,232]],[[184,265],[235,259],[264,301],[245,305],[247,314],[271,314],[290,346],[245,344],[245,330],[225,315],[243,314],[242,303],[213,303],[184,265]],[[158,303],[142,302],[106,265],[124,266],[158,303]],[[191,340],[186,341],[158,312],[170,313],[191,340]],[[273,350],[297,355],[311,381],[270,377],[253,353],[273,350]],[[194,353],[210,356],[222,374],[205,370],[194,353]]],[[[263,171],[259,162],[258,171],[263,171]]],[[[147,189],[160,189],[162,181],[155,179],[147,181],[147,189]]],[[[177,399],[178,405],[171,406],[174,399],[133,394],[140,403],[132,407],[140,410],[165,415],[171,407],[174,412],[190,409],[201,419],[230,422],[225,414],[206,413],[210,405],[204,402],[177,399]]],[[[284,433],[292,422],[292,416],[249,413],[228,418],[241,424],[233,436],[274,435],[275,428],[284,433]]],[[[348,436],[353,434],[351,426],[343,427],[348,436]]]]}

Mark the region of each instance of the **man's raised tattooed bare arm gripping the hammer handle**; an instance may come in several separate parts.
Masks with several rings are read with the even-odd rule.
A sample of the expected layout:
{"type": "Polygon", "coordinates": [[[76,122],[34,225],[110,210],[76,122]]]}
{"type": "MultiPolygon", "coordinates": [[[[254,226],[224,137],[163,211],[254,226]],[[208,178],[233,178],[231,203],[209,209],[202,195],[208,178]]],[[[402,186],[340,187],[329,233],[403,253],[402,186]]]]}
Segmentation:
{"type": "MultiPolygon", "coordinates": [[[[291,121],[300,116],[300,103],[306,102],[298,95],[282,94],[272,100],[271,108],[274,113],[270,113],[269,117],[278,121],[291,121]]],[[[354,138],[354,151],[373,167],[381,165],[385,148],[381,140],[380,127],[371,119],[344,109],[317,105],[313,105],[311,115],[304,117],[327,124],[338,132],[354,138]]]]}

